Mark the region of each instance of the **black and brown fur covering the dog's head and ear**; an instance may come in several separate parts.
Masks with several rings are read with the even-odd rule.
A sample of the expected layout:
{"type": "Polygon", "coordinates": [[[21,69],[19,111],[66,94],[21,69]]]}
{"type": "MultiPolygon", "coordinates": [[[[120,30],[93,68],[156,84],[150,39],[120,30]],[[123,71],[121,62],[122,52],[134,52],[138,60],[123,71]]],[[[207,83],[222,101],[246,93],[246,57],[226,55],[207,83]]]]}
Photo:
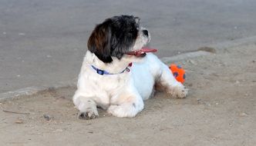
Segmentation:
{"type": "Polygon", "coordinates": [[[138,35],[139,18],[133,15],[120,15],[107,18],[96,25],[88,40],[88,49],[101,61],[110,63],[111,56],[122,58],[130,51],[138,35]]]}

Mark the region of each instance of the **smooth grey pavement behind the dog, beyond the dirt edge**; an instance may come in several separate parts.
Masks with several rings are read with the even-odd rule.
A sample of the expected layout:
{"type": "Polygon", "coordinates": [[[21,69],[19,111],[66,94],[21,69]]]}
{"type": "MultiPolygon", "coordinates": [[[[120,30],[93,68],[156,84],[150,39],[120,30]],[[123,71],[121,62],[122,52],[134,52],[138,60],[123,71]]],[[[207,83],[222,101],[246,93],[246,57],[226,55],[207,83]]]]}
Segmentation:
{"type": "Polygon", "coordinates": [[[76,78],[95,25],[122,14],[159,57],[256,35],[255,0],[0,0],[0,93],[76,78]]]}

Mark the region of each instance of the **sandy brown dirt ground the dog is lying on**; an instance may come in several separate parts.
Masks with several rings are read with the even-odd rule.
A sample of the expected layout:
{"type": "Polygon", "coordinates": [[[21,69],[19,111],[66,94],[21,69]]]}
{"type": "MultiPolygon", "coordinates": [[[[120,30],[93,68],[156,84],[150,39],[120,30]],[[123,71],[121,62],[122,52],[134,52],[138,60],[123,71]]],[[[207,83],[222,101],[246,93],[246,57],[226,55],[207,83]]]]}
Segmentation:
{"type": "Polygon", "coordinates": [[[157,93],[136,118],[99,110],[79,120],[76,88],[1,101],[0,145],[255,145],[256,45],[175,62],[187,71],[186,99],[157,93]],[[11,111],[17,112],[12,113],[11,111]]]}

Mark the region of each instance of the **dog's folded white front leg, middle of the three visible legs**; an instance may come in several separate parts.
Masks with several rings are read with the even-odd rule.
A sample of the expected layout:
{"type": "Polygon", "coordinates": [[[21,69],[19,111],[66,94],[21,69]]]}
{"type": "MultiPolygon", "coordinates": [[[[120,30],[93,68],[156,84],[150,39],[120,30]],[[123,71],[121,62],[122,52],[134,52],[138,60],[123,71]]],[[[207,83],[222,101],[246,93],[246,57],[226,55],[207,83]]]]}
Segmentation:
{"type": "Polygon", "coordinates": [[[143,99],[139,94],[125,93],[118,95],[114,100],[114,105],[110,105],[107,111],[116,117],[132,118],[144,108],[143,99]]]}

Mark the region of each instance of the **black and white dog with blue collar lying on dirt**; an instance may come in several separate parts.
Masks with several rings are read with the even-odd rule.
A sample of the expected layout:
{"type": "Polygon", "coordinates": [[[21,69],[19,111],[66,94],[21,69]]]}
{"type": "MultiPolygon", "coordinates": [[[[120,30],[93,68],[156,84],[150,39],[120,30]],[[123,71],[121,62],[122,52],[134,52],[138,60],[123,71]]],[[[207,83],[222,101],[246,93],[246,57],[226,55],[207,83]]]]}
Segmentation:
{"type": "Polygon", "coordinates": [[[79,118],[97,118],[97,107],[116,117],[133,118],[156,86],[170,97],[187,96],[187,88],[167,65],[152,50],[143,48],[149,41],[150,33],[133,15],[113,16],[96,25],[72,98],[79,118]]]}

